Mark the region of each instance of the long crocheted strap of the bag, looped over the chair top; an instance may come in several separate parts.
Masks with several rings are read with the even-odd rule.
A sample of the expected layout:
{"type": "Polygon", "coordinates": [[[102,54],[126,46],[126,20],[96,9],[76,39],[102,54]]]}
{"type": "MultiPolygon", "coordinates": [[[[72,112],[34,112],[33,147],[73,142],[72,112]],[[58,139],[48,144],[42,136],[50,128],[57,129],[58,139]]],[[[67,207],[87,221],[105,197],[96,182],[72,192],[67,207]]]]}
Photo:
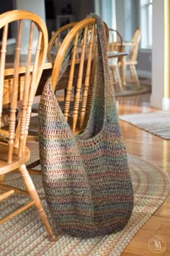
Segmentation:
{"type": "MultiPolygon", "coordinates": [[[[104,22],[97,14],[89,14],[97,20],[97,70],[94,81],[94,97],[91,112],[95,112],[95,119],[99,121],[115,121],[116,101],[114,87],[109,76],[107,56],[107,38],[104,22]],[[103,113],[103,115],[102,115],[103,113]],[[100,120],[104,118],[104,120],[100,120]]],[[[92,114],[91,113],[91,114],[92,114]]],[[[92,114],[93,115],[93,114],[92,114]]],[[[92,118],[92,117],[91,117],[92,118]]]]}

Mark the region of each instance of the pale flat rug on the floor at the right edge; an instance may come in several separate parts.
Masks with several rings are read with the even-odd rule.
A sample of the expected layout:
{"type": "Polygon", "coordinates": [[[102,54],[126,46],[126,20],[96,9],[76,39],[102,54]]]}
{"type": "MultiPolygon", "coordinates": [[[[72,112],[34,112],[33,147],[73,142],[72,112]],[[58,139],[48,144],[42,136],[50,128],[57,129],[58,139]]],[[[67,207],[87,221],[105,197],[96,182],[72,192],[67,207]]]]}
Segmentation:
{"type": "Polygon", "coordinates": [[[170,111],[120,115],[119,118],[156,136],[170,139],[170,111]]]}

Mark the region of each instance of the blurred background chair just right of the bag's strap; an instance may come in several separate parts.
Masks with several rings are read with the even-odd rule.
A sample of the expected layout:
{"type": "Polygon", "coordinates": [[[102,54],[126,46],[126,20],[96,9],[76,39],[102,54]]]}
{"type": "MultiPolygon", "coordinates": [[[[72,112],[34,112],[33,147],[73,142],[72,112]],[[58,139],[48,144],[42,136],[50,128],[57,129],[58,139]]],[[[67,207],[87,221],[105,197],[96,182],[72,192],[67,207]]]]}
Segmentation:
{"type": "MultiPolygon", "coordinates": [[[[117,52],[122,51],[122,36],[117,30],[109,28],[109,40],[108,40],[108,51],[115,50],[117,52]]],[[[111,78],[113,84],[119,86],[120,91],[123,91],[122,81],[120,78],[120,65],[121,58],[112,58],[109,60],[109,69],[111,71],[111,78]]]]}

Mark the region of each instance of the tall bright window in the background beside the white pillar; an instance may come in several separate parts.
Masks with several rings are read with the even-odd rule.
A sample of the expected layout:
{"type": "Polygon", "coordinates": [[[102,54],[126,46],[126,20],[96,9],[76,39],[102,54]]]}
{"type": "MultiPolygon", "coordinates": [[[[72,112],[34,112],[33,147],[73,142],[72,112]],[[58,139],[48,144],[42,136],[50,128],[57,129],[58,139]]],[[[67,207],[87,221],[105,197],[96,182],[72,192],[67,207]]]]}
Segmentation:
{"type": "Polygon", "coordinates": [[[141,48],[152,47],[152,1],[140,0],[141,48]]]}

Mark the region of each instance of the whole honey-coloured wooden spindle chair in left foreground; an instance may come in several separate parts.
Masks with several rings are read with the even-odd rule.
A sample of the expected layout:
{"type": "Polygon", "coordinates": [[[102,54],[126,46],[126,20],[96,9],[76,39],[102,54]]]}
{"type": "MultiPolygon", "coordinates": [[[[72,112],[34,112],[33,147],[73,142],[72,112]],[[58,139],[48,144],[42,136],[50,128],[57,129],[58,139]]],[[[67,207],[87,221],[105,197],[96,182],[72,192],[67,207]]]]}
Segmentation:
{"type": "Polygon", "coordinates": [[[32,182],[32,178],[25,166],[30,158],[30,150],[26,146],[27,132],[30,123],[32,101],[35,96],[38,82],[42,74],[45,58],[48,49],[48,32],[45,23],[37,15],[14,10],[0,15],[0,29],[2,32],[0,50],[0,127],[1,112],[4,104],[10,105],[9,130],[1,129],[0,133],[0,200],[6,200],[14,193],[27,195],[30,201],[8,216],[3,216],[0,224],[4,224],[12,217],[35,206],[37,213],[48,231],[51,241],[56,238],[53,234],[45,210],[42,207],[39,195],[32,182]],[[6,41],[9,26],[14,26],[17,32],[16,47],[14,53],[14,64],[6,68],[6,60],[9,57],[6,53],[6,41]],[[22,63],[23,31],[27,30],[27,43],[24,37],[24,45],[27,46],[27,61],[22,63]],[[24,71],[24,81],[19,84],[19,75],[24,71]],[[6,84],[4,77],[11,75],[11,84],[6,84]],[[16,118],[17,105],[19,100],[19,118],[16,118]],[[18,171],[26,190],[19,187],[6,185],[4,176],[10,172],[18,171]]]}

